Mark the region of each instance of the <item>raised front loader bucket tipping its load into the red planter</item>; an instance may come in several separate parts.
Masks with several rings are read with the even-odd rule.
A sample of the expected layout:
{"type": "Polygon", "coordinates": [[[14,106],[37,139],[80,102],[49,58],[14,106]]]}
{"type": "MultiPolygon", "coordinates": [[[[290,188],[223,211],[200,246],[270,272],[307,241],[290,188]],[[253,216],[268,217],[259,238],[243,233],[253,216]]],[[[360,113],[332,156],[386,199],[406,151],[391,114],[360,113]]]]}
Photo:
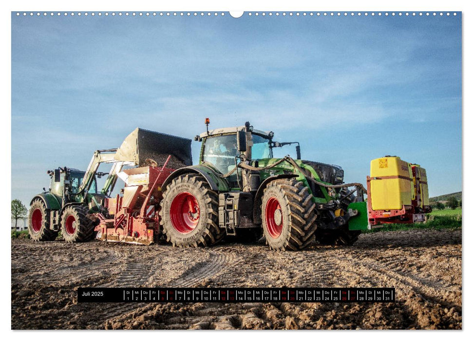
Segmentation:
{"type": "Polygon", "coordinates": [[[162,166],[168,155],[172,155],[170,168],[191,166],[190,143],[191,140],[188,138],[136,128],[116,151],[115,160],[144,166],[146,159],[151,159],[162,166]]]}

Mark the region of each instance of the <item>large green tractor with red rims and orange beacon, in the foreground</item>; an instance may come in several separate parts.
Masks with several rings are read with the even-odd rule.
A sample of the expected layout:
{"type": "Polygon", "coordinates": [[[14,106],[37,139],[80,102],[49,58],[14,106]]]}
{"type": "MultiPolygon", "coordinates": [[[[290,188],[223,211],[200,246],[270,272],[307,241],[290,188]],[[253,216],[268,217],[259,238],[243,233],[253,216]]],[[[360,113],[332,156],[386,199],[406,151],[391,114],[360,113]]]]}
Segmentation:
{"type": "Polygon", "coordinates": [[[249,122],[211,131],[206,124],[194,138],[202,142],[199,165],[175,170],[162,186],[160,224],[172,245],[264,234],[272,249],[302,250],[316,241],[352,245],[367,227],[366,190],[344,184],[341,167],[301,160],[298,142],[274,142],[249,122]],[[288,144],[296,144],[296,159],[273,158],[288,144]]]}

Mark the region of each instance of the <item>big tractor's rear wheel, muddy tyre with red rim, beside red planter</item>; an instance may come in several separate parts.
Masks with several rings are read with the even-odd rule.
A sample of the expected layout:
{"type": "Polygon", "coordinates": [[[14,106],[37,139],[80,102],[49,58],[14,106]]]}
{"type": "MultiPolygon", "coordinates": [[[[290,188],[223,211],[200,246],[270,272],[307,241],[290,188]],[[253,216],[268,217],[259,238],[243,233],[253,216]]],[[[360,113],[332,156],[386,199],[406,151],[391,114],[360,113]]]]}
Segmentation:
{"type": "Polygon", "coordinates": [[[211,246],[225,236],[218,226],[218,194],[199,174],[173,179],[163,192],[161,225],[173,246],[211,246]]]}

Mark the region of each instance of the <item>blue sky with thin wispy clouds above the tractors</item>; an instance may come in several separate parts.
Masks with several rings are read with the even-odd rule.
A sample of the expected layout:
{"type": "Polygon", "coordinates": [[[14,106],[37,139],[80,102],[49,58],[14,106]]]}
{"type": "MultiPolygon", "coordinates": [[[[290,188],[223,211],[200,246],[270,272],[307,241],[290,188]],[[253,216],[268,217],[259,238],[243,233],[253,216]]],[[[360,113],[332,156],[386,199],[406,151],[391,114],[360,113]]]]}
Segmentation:
{"type": "Polygon", "coordinates": [[[28,205],[46,170],[85,169],[136,127],[192,138],[205,117],[297,140],[347,182],[390,154],[426,168],[431,196],[459,191],[461,14],[12,13],[12,199],[28,205]]]}

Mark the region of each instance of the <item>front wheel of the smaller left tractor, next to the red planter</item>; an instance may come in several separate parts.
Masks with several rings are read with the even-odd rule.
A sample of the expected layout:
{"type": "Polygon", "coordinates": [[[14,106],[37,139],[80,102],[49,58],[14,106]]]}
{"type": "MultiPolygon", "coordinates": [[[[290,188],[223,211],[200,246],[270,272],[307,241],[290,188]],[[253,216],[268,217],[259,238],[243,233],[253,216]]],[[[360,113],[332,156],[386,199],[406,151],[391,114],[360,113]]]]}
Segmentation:
{"type": "Polygon", "coordinates": [[[66,243],[88,242],[94,236],[94,222],[87,217],[89,208],[72,205],[61,214],[61,232],[66,243]]]}

